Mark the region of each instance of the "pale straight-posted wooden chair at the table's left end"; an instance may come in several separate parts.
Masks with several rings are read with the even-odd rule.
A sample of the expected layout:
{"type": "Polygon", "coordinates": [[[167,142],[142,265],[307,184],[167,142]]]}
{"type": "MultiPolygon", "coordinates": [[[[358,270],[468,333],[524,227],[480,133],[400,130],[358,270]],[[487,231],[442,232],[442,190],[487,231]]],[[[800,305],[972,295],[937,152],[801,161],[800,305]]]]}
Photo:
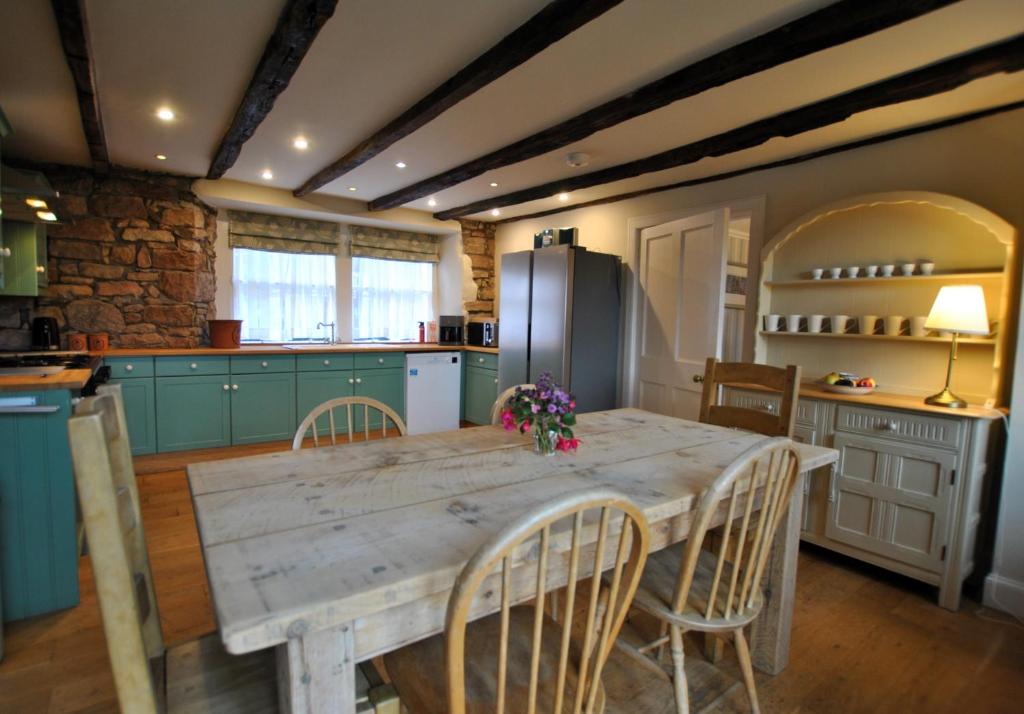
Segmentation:
{"type": "Polygon", "coordinates": [[[97,391],[68,429],[121,710],[276,712],[271,652],[234,657],[214,636],[165,650],[121,386],[97,391]]]}

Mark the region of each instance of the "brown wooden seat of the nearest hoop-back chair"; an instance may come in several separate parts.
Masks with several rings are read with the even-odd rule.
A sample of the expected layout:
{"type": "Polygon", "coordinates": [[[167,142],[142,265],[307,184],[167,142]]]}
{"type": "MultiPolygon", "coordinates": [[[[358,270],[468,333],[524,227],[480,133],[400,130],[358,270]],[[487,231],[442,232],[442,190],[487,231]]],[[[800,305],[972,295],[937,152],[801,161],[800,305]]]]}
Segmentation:
{"type": "MultiPolygon", "coordinates": [[[[498,647],[501,641],[501,617],[495,614],[470,623],[466,628],[466,713],[493,714],[497,702],[498,647]]],[[[520,714],[527,711],[529,698],[529,665],[534,635],[534,607],[523,605],[509,611],[508,681],[505,690],[505,711],[520,714]]],[[[561,650],[562,628],[545,616],[538,677],[537,711],[550,712],[554,706],[558,678],[558,654],[561,650]]],[[[569,655],[569,675],[566,677],[565,705],[562,711],[572,711],[575,696],[575,662],[569,655]]],[[[435,635],[397,652],[384,656],[391,682],[410,714],[446,714],[444,636],[435,635]]],[[[600,689],[595,712],[604,711],[604,689],[600,689]]]]}

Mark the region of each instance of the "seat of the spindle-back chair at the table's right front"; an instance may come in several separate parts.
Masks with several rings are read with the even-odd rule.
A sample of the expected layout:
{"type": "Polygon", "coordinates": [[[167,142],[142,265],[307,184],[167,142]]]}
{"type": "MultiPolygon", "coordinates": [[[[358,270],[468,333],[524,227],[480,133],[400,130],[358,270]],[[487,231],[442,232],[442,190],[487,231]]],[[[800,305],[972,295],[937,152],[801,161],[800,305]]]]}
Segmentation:
{"type": "MultiPolygon", "coordinates": [[[[728,618],[724,617],[725,599],[729,592],[729,578],[732,575],[731,564],[726,562],[722,568],[715,610],[711,618],[705,617],[717,562],[716,555],[707,550],[701,550],[697,558],[697,565],[693,572],[693,584],[690,586],[686,606],[682,613],[673,613],[672,599],[676,592],[676,583],[679,580],[683,547],[684,544],[679,543],[656,553],[651,553],[647,557],[643,577],[640,579],[640,587],[637,588],[636,597],[633,599],[634,606],[686,630],[699,630],[701,632],[734,630],[737,627],[745,626],[758,616],[764,605],[764,598],[760,590],[754,595],[754,605],[741,616],[732,612],[728,618]]],[[[740,574],[741,578],[742,574],[740,574]]],[[[740,585],[741,580],[740,583],[736,584],[737,590],[740,585]]],[[[733,606],[733,611],[734,608],[733,606]]]]}

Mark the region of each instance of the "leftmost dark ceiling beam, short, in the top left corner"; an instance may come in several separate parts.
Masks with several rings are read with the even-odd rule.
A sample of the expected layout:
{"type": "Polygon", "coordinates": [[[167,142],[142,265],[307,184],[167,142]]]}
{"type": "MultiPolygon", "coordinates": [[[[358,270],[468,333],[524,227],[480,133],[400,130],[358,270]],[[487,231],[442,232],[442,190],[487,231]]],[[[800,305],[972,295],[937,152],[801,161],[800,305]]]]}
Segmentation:
{"type": "Polygon", "coordinates": [[[89,46],[89,25],[85,7],[80,0],[52,0],[53,15],[60,33],[68,69],[75,81],[78,95],[78,111],[82,117],[82,130],[89,146],[92,167],[106,171],[111,160],[106,154],[106,137],[103,135],[103,119],[99,114],[99,96],[96,94],[96,73],[92,67],[89,46]]]}

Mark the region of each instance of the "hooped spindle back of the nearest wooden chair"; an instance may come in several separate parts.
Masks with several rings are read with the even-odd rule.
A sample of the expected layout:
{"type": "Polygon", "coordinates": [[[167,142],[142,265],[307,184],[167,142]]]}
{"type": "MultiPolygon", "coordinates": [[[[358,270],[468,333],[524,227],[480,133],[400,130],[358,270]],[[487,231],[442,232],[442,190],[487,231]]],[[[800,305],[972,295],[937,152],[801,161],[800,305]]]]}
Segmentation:
{"type": "MultiPolygon", "coordinates": [[[[493,711],[500,714],[509,711],[527,714],[600,711],[604,696],[601,672],[639,584],[647,547],[647,521],[643,512],[609,489],[566,495],[497,534],[463,569],[449,600],[445,623],[447,711],[452,714],[467,712],[467,624],[474,601],[478,603],[480,590],[486,591],[483,597],[492,596],[493,588],[484,588],[492,575],[500,583],[494,589],[501,590],[493,711]],[[598,512],[597,540],[591,560],[582,552],[589,547],[584,548],[582,544],[588,512],[592,524],[594,511],[598,512]],[[567,552],[564,551],[566,540],[567,552]],[[560,544],[560,552],[551,552],[553,543],[560,544]],[[529,564],[535,556],[536,570],[529,564]],[[567,559],[566,571],[554,568],[551,564],[554,558],[559,564],[567,559]],[[602,572],[609,560],[609,585],[602,589],[602,572]],[[582,574],[581,570],[584,570],[582,574]],[[575,600],[581,575],[589,581],[590,588],[585,614],[580,613],[578,618],[575,600]],[[545,612],[547,590],[553,580],[556,586],[562,582],[566,586],[564,615],[562,622],[557,624],[545,612]],[[516,601],[523,599],[532,603],[513,607],[516,601]],[[527,614],[529,608],[531,614],[527,614]],[[520,668],[518,660],[510,662],[510,656],[523,654],[520,648],[510,653],[510,632],[523,617],[531,618],[527,623],[530,632],[528,684],[521,692],[525,702],[513,700],[507,692],[513,679],[517,695],[522,683],[523,677],[510,676],[511,670],[520,668]]],[[[523,657],[522,663],[525,662],[523,657]]],[[[480,710],[473,708],[471,711],[480,710]]]]}

